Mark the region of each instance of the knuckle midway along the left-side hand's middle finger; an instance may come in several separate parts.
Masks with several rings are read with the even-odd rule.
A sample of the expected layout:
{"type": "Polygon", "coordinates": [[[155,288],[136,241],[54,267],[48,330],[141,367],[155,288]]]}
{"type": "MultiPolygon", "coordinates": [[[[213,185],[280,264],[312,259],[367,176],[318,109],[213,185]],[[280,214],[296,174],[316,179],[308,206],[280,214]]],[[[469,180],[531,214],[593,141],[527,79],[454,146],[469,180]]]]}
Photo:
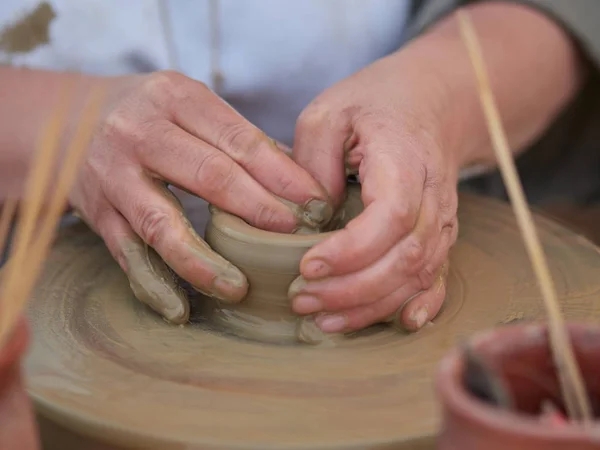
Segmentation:
{"type": "Polygon", "coordinates": [[[197,183],[209,202],[214,201],[224,192],[228,192],[234,179],[234,162],[220,152],[206,155],[196,168],[197,183]]]}

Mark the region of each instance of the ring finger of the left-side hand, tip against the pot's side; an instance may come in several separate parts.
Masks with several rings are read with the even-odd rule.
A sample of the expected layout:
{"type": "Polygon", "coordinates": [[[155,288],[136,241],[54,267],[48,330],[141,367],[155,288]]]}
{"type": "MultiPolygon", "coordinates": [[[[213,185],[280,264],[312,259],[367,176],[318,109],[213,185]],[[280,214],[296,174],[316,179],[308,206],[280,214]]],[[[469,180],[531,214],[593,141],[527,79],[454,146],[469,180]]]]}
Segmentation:
{"type": "Polygon", "coordinates": [[[244,298],[246,277],[196,234],[162,183],[125,170],[118,179],[107,190],[109,201],[169,267],[206,295],[230,302],[244,298]]]}

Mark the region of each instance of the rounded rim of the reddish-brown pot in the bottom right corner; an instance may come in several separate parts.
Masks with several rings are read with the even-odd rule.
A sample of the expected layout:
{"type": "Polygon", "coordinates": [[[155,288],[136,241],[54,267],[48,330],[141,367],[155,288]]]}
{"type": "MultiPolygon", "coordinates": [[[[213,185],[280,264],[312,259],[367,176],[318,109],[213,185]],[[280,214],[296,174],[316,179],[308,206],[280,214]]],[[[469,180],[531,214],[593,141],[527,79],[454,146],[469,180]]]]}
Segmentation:
{"type": "MultiPolygon", "coordinates": [[[[569,322],[567,328],[571,336],[574,332],[581,333],[585,331],[600,335],[600,325],[596,323],[569,322]]],[[[503,325],[497,329],[477,333],[468,342],[476,348],[484,342],[497,340],[504,335],[510,336],[515,329],[521,331],[518,334],[519,336],[526,333],[539,335],[547,333],[547,324],[538,322],[503,325]]],[[[452,414],[467,419],[483,429],[506,433],[507,435],[518,434],[527,438],[538,438],[540,435],[544,435],[544,438],[548,440],[581,439],[584,436],[594,440],[600,439],[600,426],[596,421],[589,428],[570,423],[564,427],[551,427],[537,420],[537,416],[501,410],[469,395],[460,383],[459,377],[463,355],[460,347],[454,348],[442,358],[438,366],[435,377],[435,390],[443,410],[452,411],[452,414]]],[[[444,416],[446,414],[447,412],[444,413],[444,416]]]]}

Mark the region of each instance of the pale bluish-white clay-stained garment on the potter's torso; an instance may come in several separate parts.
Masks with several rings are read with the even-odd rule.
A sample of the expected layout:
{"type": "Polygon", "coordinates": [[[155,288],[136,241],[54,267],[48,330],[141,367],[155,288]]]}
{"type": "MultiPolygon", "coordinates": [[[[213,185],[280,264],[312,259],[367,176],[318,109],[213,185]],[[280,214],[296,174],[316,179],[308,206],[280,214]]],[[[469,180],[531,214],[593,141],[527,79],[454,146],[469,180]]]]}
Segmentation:
{"type": "MultiPolygon", "coordinates": [[[[0,0],[0,30],[39,2],[0,0]]],[[[49,3],[56,13],[50,43],[26,54],[0,51],[0,62],[99,75],[172,68],[211,88],[218,87],[218,69],[217,93],[289,145],[298,115],[315,96],[400,47],[410,0],[49,3]]]]}

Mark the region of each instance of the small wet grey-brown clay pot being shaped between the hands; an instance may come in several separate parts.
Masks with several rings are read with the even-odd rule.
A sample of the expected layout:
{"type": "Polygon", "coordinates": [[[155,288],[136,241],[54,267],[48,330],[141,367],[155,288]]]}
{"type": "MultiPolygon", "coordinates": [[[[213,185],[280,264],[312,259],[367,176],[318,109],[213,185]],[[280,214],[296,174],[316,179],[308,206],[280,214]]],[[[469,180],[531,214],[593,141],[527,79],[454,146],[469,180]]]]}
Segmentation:
{"type": "MultiPolygon", "coordinates": [[[[360,188],[350,185],[334,229],[363,209],[360,188]]],[[[242,219],[211,208],[206,242],[247,277],[249,291],[239,304],[209,302],[207,314],[220,328],[251,340],[270,343],[318,343],[328,339],[312,322],[291,309],[288,290],[300,275],[300,260],[331,233],[280,234],[259,230],[242,219]]]]}

